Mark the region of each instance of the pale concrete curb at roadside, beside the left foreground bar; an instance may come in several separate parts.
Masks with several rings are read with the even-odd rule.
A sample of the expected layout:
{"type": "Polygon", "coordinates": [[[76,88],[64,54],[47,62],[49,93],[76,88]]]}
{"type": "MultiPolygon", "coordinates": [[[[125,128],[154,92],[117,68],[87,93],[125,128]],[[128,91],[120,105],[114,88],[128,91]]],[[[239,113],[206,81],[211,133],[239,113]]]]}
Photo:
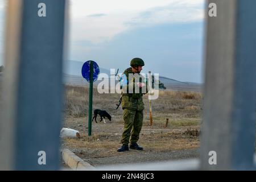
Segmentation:
{"type": "Polygon", "coordinates": [[[95,168],[89,163],[84,162],[81,158],[76,156],[73,152],[68,149],[63,149],[61,151],[61,158],[64,160],[70,168],[75,171],[92,171],[95,168]]]}

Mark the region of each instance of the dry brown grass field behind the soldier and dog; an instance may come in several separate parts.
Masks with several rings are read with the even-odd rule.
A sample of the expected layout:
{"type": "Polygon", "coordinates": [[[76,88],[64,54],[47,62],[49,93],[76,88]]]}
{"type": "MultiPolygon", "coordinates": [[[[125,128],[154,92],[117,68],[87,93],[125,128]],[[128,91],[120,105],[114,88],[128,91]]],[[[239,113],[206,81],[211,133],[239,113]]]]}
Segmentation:
{"type": "MultiPolygon", "coordinates": [[[[102,109],[112,115],[112,121],[92,123],[92,136],[88,137],[89,88],[65,86],[64,127],[79,130],[81,138],[62,140],[81,158],[102,158],[127,155],[117,152],[121,146],[123,129],[122,108],[116,110],[120,94],[99,94],[93,89],[93,109],[102,109]]],[[[201,122],[201,93],[160,90],[159,98],[152,101],[153,125],[149,126],[149,101],[144,95],[144,121],[139,144],[144,151],[184,150],[199,147],[201,122]],[[168,125],[166,126],[166,119],[168,125]]],[[[98,121],[100,119],[98,118],[98,121]]],[[[143,152],[144,152],[143,151],[143,152]]],[[[129,154],[138,151],[130,150],[129,154]]]]}

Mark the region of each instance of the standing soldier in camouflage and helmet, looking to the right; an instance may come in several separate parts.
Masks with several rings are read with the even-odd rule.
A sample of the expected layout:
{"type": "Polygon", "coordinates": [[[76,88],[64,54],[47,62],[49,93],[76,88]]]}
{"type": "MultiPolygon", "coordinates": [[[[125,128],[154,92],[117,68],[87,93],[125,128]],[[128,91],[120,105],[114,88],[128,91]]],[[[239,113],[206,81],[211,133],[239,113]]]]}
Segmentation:
{"type": "Polygon", "coordinates": [[[143,150],[142,147],[138,146],[137,142],[139,139],[139,133],[141,132],[142,122],[143,122],[143,94],[148,92],[147,82],[145,84],[141,73],[142,67],[144,66],[144,61],[138,57],[131,60],[130,68],[127,68],[123,73],[127,79],[127,85],[122,88],[122,109],[123,109],[123,120],[125,121],[125,126],[123,127],[122,134],[122,147],[118,148],[118,152],[123,152],[129,150],[129,139],[130,148],[135,150],[143,150]],[[129,80],[129,75],[134,76],[129,80]],[[136,79],[139,77],[142,79],[136,79]],[[139,82],[135,82],[135,81],[139,82]],[[146,86],[146,88],[144,88],[146,86]],[[129,92],[129,88],[133,87],[132,92],[129,92]],[[136,88],[138,87],[138,88],[136,88]],[[143,89],[146,92],[142,92],[143,89]],[[139,89],[139,93],[135,92],[135,89],[139,89]]]}

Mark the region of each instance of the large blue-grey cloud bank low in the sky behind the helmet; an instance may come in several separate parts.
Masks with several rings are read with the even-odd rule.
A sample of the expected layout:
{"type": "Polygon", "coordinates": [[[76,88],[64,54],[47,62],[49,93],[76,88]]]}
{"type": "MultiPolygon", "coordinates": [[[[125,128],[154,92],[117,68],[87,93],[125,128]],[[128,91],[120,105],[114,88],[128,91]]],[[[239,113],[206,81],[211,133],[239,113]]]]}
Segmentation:
{"type": "Polygon", "coordinates": [[[134,28],[109,42],[88,46],[86,41],[81,41],[69,59],[96,60],[102,68],[123,71],[129,67],[131,58],[142,57],[147,63],[144,72],[201,82],[203,30],[202,21],[134,28]]]}

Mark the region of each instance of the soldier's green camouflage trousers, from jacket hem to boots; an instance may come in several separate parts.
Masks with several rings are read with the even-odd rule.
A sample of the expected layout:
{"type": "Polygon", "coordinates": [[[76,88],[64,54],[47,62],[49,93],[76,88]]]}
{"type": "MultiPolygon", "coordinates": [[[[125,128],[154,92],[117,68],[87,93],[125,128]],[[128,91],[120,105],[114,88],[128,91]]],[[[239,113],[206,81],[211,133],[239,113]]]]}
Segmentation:
{"type": "Polygon", "coordinates": [[[123,127],[122,144],[129,144],[130,137],[130,143],[137,143],[143,123],[143,110],[123,109],[123,120],[125,126],[123,127]]]}

